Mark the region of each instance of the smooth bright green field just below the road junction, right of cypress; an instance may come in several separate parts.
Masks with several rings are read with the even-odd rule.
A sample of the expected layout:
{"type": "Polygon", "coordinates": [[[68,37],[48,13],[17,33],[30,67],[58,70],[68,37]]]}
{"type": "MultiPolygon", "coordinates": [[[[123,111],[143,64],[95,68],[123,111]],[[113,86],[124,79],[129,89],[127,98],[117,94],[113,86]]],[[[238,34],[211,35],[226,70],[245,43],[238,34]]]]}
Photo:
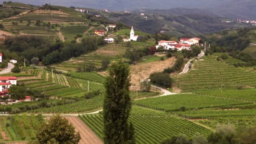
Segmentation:
{"type": "Polygon", "coordinates": [[[141,107],[148,107],[157,110],[163,110],[165,112],[171,111],[183,111],[191,109],[204,109],[215,108],[224,106],[233,106],[241,104],[251,104],[251,102],[245,102],[235,99],[226,99],[214,96],[200,96],[195,94],[177,94],[170,96],[162,96],[157,98],[142,99],[134,101],[141,107]]]}

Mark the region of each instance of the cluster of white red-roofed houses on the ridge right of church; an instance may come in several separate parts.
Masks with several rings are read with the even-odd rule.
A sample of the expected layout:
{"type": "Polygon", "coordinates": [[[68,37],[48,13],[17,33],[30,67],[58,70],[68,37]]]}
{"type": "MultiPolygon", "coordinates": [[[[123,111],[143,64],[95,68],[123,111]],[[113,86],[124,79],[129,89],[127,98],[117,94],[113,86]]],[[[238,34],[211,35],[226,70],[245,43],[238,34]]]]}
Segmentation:
{"type": "Polygon", "coordinates": [[[197,37],[181,38],[178,42],[161,40],[158,42],[158,45],[156,45],[156,48],[163,47],[166,50],[177,49],[177,51],[181,51],[183,49],[186,49],[191,51],[191,45],[200,45],[199,41],[200,41],[200,38],[197,38],[197,37]]]}

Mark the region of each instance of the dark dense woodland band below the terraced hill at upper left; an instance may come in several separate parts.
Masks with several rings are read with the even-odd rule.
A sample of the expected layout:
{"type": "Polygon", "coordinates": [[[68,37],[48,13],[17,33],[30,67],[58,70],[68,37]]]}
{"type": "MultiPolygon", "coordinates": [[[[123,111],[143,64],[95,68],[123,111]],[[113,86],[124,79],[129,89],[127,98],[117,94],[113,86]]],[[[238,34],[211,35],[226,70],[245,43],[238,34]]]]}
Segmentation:
{"type": "Polygon", "coordinates": [[[93,51],[99,45],[104,45],[102,37],[88,37],[81,43],[64,44],[60,40],[52,42],[47,38],[36,36],[8,37],[5,47],[11,52],[16,52],[31,63],[33,57],[39,58],[43,64],[53,64],[77,57],[88,51],[93,51]]]}

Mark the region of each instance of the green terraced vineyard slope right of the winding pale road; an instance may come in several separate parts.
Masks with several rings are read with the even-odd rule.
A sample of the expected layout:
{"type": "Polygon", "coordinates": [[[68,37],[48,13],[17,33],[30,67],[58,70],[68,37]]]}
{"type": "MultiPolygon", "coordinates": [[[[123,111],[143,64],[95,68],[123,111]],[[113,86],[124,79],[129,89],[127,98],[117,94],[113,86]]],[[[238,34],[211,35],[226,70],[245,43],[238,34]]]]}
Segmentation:
{"type": "Polygon", "coordinates": [[[192,70],[187,74],[174,77],[175,86],[183,91],[197,88],[221,88],[256,86],[256,73],[245,71],[243,68],[236,68],[232,64],[237,60],[228,58],[224,61],[217,61],[217,54],[204,56],[203,60],[195,61],[192,70]]]}

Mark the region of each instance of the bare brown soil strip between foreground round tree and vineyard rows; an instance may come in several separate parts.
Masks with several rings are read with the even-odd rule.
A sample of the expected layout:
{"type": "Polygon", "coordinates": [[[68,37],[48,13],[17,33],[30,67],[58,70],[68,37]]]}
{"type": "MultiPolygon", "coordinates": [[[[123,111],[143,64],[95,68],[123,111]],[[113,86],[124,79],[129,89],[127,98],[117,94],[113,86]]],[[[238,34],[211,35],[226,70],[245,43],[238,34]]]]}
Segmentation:
{"type": "Polygon", "coordinates": [[[65,117],[75,127],[75,131],[80,132],[81,140],[79,144],[103,144],[98,136],[83,123],[79,117],[65,117]]]}

